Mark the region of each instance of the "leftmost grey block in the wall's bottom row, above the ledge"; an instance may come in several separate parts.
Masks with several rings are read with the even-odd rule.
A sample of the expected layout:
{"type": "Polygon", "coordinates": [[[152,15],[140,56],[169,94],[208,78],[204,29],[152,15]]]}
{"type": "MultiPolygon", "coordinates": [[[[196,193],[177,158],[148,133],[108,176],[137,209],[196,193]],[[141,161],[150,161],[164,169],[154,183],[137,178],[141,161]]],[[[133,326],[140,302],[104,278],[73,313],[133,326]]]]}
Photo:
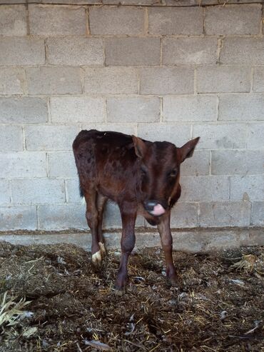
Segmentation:
{"type": "Polygon", "coordinates": [[[36,230],[36,206],[0,208],[0,230],[36,230]]]}

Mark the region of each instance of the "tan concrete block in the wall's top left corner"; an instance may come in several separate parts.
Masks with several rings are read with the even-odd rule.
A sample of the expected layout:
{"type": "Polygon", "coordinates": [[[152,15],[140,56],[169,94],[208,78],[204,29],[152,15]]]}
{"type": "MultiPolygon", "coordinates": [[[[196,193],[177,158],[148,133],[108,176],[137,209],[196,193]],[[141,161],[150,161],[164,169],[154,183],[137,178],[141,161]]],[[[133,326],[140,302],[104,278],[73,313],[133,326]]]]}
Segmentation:
{"type": "Polygon", "coordinates": [[[1,36],[26,36],[26,6],[1,6],[0,11],[1,36]]]}

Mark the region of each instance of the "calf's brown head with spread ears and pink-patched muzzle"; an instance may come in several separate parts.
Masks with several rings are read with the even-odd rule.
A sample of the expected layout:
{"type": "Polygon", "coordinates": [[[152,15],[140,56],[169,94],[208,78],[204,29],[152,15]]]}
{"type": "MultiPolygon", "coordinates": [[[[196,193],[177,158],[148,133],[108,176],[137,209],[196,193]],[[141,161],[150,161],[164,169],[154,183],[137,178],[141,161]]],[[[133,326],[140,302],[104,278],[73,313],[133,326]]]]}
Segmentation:
{"type": "Polygon", "coordinates": [[[142,203],[152,216],[161,216],[178,192],[181,163],[193,155],[199,137],[181,148],[169,142],[149,142],[133,136],[138,156],[142,203]]]}

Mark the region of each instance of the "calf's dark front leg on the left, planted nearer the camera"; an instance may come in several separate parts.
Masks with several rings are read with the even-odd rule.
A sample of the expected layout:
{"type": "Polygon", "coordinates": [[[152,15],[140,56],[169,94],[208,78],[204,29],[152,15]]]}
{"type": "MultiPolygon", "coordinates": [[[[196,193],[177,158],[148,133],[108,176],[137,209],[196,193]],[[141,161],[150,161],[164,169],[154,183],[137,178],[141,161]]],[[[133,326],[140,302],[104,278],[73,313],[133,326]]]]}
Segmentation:
{"type": "Polygon", "coordinates": [[[129,211],[120,207],[122,218],[122,237],[121,237],[121,261],[116,277],[116,293],[123,294],[126,290],[126,281],[128,279],[128,257],[133,251],[136,243],[135,223],[136,223],[136,208],[129,211]]]}

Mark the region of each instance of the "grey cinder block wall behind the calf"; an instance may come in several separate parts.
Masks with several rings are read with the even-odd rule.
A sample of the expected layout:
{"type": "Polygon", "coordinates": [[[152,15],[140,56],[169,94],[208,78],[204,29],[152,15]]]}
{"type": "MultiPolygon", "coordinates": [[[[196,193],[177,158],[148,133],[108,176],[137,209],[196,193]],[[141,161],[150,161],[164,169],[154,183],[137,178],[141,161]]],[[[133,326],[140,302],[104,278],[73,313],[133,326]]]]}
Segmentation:
{"type": "Polygon", "coordinates": [[[172,227],[263,225],[263,1],[24,2],[0,5],[0,230],[86,228],[81,129],[200,136],[172,227]]]}

